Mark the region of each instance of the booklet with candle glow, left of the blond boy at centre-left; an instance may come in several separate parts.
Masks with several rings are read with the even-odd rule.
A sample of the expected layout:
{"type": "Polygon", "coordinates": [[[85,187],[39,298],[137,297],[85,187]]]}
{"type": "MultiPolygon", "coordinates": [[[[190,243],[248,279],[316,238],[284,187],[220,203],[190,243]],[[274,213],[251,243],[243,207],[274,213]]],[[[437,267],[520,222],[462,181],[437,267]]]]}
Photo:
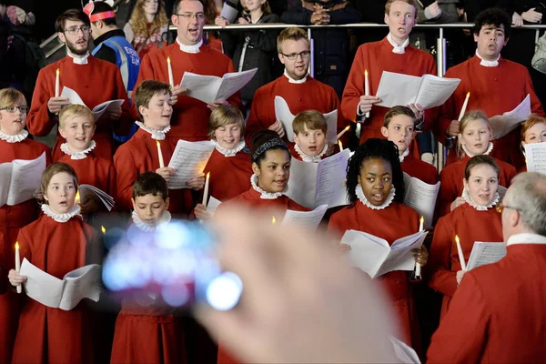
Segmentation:
{"type": "Polygon", "coordinates": [[[168,162],[168,167],[175,168],[176,175],[168,178],[167,186],[170,189],[189,188],[187,181],[203,172],[213,151],[214,143],[210,141],[178,140],[173,157],[168,162]]]}

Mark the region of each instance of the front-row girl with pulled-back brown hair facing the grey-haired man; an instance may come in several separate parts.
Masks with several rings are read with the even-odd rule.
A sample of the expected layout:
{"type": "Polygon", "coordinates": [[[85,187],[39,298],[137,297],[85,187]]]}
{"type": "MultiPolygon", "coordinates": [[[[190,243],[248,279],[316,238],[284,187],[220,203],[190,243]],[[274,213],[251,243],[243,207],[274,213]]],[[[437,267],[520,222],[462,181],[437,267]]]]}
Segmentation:
{"type": "Polygon", "coordinates": [[[501,214],[495,208],[499,203],[500,168],[489,156],[471,157],[464,171],[464,204],[438,220],[430,248],[427,267],[430,288],[444,295],[441,308],[443,317],[460,285],[464,271],[460,268],[455,236],[465,262],[476,241],[501,242],[501,214]]]}

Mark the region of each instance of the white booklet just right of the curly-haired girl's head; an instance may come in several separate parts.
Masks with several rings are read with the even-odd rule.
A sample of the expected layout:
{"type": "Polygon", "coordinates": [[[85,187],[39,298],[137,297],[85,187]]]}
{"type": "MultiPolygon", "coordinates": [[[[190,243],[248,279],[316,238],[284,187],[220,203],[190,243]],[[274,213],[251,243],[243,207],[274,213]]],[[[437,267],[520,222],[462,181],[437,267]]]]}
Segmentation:
{"type": "Polygon", "coordinates": [[[404,203],[417,211],[420,216],[425,217],[425,227],[431,227],[436,197],[440,191],[440,182],[436,185],[429,185],[404,172],[404,185],[406,186],[404,203]]]}

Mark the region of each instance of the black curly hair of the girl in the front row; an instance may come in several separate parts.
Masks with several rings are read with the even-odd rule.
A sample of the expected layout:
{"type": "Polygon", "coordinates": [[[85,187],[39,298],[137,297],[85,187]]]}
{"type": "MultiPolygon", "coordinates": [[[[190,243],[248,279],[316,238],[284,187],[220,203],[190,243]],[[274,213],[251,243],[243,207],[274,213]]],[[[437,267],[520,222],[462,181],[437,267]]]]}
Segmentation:
{"type": "Polygon", "coordinates": [[[403,203],[406,187],[404,186],[404,175],[400,166],[398,147],[389,140],[370,138],[355,150],[355,154],[350,157],[347,165],[349,204],[355,203],[358,199],[355,188],[359,184],[360,168],[362,168],[362,163],[369,159],[383,159],[389,162],[392,168],[392,185],[395,188],[394,200],[403,203]]]}

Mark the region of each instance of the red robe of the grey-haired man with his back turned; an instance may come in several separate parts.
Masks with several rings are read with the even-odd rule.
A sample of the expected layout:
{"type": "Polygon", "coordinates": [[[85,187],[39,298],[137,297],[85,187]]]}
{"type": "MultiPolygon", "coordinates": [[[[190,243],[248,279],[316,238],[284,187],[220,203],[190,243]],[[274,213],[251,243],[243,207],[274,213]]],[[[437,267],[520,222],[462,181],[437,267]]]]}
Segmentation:
{"type": "MultiPolygon", "coordinates": [[[[536,237],[536,238],[534,238],[536,237]]],[[[507,247],[467,272],[432,337],[429,363],[540,363],[546,358],[546,245],[507,247]]]]}

